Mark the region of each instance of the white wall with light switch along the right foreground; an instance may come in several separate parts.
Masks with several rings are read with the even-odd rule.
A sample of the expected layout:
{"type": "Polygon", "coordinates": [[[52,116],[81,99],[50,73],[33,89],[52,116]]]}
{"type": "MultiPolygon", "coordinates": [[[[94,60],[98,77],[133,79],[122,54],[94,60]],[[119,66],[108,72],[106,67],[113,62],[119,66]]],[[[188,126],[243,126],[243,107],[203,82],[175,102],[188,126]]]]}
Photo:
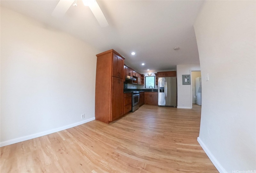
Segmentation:
{"type": "Polygon", "coordinates": [[[205,1],[194,25],[203,93],[198,141],[220,172],[256,170],[255,2],[205,1]]]}

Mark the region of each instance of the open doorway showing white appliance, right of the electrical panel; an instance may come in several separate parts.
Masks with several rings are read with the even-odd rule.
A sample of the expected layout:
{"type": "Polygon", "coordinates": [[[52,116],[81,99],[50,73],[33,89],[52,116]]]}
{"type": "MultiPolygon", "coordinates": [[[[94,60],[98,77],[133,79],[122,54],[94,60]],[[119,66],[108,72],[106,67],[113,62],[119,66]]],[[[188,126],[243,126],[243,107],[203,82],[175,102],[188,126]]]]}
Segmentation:
{"type": "Polygon", "coordinates": [[[201,71],[190,71],[191,76],[191,108],[202,103],[201,71]]]}

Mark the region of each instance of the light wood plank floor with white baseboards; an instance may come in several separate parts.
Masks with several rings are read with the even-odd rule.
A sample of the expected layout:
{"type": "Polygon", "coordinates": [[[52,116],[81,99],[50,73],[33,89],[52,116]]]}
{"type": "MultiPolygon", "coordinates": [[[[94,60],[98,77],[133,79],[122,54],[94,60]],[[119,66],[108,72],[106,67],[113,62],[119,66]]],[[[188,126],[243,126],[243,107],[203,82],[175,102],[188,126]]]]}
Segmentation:
{"type": "Polygon", "coordinates": [[[143,105],[113,123],[91,121],[1,147],[4,172],[218,172],[197,142],[201,107],[143,105]]]}

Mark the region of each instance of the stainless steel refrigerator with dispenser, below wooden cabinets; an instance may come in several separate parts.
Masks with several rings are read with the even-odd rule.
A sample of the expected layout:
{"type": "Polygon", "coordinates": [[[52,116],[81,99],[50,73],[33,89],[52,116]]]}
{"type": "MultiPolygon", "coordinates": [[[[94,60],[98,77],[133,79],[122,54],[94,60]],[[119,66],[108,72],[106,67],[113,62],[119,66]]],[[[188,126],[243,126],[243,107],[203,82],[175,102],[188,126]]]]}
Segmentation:
{"type": "Polygon", "coordinates": [[[176,77],[158,78],[158,106],[176,107],[176,77]]]}

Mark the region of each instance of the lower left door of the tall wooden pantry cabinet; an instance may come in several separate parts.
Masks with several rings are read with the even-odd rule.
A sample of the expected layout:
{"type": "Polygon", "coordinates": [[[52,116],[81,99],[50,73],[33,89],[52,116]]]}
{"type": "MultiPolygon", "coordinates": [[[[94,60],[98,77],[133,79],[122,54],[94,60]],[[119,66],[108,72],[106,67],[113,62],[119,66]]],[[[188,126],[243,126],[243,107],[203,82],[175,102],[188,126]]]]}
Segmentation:
{"type": "Polygon", "coordinates": [[[112,97],[111,97],[111,116],[110,121],[114,121],[118,118],[118,90],[119,90],[119,78],[112,77],[112,97]]]}

